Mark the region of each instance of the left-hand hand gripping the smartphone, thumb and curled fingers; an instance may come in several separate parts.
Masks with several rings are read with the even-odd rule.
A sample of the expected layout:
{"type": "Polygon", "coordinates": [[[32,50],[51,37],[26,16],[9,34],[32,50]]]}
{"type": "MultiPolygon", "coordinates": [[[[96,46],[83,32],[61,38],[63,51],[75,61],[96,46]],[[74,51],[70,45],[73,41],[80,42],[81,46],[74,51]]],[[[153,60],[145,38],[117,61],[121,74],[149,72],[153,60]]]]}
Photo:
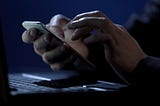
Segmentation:
{"type": "MultiPolygon", "coordinates": [[[[46,26],[56,36],[65,39],[82,56],[87,57],[88,49],[81,42],[82,40],[70,40],[73,31],[66,27],[69,20],[63,15],[55,15],[46,26]]],[[[41,34],[37,29],[24,31],[22,40],[25,43],[33,44],[34,51],[42,56],[43,61],[49,64],[53,70],[66,68],[75,61],[75,56],[73,56],[66,44],[62,45],[52,35],[41,34]]]]}

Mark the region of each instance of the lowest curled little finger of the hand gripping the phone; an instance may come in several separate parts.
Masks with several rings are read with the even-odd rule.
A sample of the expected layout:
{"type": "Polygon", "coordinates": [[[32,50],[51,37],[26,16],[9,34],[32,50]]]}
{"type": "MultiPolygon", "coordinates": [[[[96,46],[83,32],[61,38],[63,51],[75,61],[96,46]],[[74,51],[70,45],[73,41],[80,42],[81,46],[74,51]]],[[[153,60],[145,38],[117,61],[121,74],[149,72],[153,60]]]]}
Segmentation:
{"type": "Polygon", "coordinates": [[[71,66],[71,64],[73,64],[75,60],[76,60],[75,55],[72,55],[69,58],[65,59],[64,61],[51,64],[50,67],[52,70],[67,69],[68,67],[71,66]]]}

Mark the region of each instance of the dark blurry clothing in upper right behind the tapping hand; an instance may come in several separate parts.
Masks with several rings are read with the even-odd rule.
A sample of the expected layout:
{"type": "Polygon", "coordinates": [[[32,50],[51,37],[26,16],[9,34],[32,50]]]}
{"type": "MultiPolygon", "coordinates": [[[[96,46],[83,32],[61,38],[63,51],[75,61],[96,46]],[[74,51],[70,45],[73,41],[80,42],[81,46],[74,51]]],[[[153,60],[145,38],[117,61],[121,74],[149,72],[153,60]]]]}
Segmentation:
{"type": "Polygon", "coordinates": [[[160,45],[160,0],[148,0],[143,10],[131,14],[124,26],[146,54],[160,57],[157,46],[160,45]]]}

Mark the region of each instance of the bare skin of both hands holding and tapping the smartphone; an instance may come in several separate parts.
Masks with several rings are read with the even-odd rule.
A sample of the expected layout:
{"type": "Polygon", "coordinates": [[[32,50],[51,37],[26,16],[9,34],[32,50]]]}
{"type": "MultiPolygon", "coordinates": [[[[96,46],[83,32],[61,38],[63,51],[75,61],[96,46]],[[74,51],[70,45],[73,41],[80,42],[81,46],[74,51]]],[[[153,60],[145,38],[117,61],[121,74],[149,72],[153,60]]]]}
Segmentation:
{"type": "MultiPolygon", "coordinates": [[[[72,20],[56,15],[47,24],[47,28],[65,39],[85,58],[89,52],[87,44],[103,44],[106,60],[128,73],[135,69],[140,60],[147,57],[124,27],[114,24],[100,11],[78,14],[72,20]],[[88,33],[90,36],[86,36],[88,33]]],[[[24,31],[22,40],[33,44],[35,52],[54,70],[62,69],[75,61],[66,44],[60,45],[51,35],[40,35],[36,29],[24,31]]]]}

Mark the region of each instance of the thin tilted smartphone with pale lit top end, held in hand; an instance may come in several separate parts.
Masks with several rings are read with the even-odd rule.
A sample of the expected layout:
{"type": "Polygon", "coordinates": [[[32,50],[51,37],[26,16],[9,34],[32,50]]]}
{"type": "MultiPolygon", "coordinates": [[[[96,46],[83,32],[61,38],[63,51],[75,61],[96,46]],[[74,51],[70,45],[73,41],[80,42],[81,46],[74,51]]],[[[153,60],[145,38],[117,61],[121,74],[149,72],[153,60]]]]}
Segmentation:
{"type": "MultiPolygon", "coordinates": [[[[22,26],[26,29],[26,30],[29,30],[31,28],[36,28],[38,29],[39,31],[41,31],[41,33],[44,33],[44,34],[51,34],[53,35],[53,37],[55,39],[57,39],[58,42],[61,42],[62,44],[67,44],[67,46],[70,47],[70,49],[73,51],[73,53],[75,55],[77,55],[77,57],[82,60],[84,63],[87,64],[87,66],[89,66],[89,68],[87,67],[87,69],[91,69],[91,70],[95,70],[96,69],[96,66],[91,62],[89,61],[87,58],[84,58],[81,54],[79,54],[73,47],[71,47],[66,41],[64,41],[61,37],[59,36],[56,36],[54,33],[52,33],[51,31],[49,31],[45,24],[43,24],[42,22],[40,21],[23,21],[22,22],[22,26]]],[[[86,65],[85,65],[86,66],[86,65]]]]}

